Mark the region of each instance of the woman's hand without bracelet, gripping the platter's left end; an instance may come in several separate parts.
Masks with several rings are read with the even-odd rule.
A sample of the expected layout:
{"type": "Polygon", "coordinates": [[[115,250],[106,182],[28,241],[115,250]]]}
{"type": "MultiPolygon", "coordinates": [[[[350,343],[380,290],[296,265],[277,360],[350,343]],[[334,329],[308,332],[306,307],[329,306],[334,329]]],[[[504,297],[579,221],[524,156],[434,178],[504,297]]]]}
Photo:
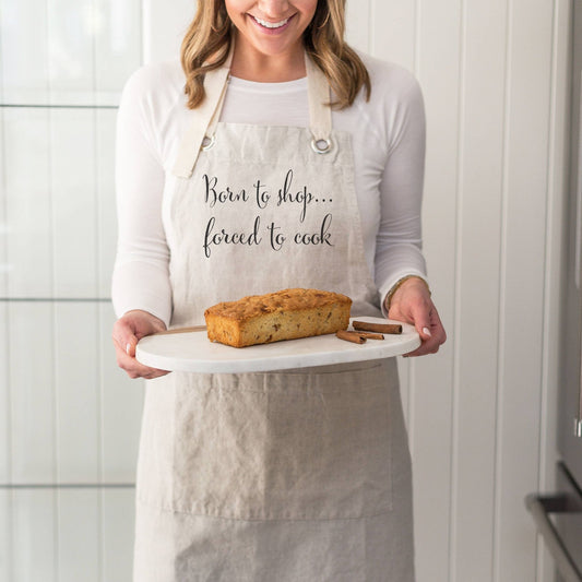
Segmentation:
{"type": "Polygon", "coordinates": [[[146,335],[162,332],[166,329],[164,322],[147,311],[128,311],[114,325],[114,346],[117,365],[128,372],[130,378],[158,378],[169,373],[166,370],[149,368],[135,359],[135,346],[146,335]]]}

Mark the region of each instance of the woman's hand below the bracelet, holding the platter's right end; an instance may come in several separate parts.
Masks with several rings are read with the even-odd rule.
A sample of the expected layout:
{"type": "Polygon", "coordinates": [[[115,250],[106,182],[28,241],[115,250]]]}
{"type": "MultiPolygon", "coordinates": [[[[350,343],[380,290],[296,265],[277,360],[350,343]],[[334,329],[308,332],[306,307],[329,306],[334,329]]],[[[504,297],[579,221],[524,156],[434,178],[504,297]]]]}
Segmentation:
{"type": "Polygon", "coordinates": [[[436,354],[447,341],[430,292],[420,277],[409,277],[400,285],[390,299],[388,317],[412,323],[420,335],[420,346],[405,356],[436,354]]]}

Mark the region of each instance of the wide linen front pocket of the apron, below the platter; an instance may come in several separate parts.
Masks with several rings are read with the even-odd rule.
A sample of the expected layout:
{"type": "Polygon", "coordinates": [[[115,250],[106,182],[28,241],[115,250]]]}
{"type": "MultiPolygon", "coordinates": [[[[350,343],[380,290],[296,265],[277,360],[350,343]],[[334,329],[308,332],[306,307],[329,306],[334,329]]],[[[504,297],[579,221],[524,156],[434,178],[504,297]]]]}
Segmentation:
{"type": "Polygon", "coordinates": [[[171,509],[244,520],[389,511],[393,389],[393,360],[308,373],[182,375],[171,509]]]}

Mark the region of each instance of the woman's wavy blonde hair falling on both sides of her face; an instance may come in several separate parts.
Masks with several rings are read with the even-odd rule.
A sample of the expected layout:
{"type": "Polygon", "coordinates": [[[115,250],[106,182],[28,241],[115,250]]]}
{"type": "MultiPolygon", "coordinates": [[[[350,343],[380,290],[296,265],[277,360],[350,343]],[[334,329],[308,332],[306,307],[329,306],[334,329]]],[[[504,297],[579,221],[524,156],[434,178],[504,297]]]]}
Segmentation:
{"type": "MultiPolygon", "coordinates": [[[[234,26],[224,0],[198,0],[194,20],[181,46],[188,107],[195,109],[204,99],[204,74],[222,67],[233,43],[234,26]]],[[[344,40],[345,0],[318,0],[313,19],[304,33],[304,45],[335,94],[334,108],[354,103],[361,87],[370,98],[370,76],[361,59],[344,40]]]]}

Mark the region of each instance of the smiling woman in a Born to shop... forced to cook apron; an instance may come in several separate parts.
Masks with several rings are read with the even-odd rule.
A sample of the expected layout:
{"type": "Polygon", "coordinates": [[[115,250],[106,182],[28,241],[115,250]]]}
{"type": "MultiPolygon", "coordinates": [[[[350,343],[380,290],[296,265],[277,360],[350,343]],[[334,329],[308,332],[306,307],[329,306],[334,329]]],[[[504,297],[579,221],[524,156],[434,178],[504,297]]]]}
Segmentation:
{"type": "Polygon", "coordinates": [[[136,581],[414,579],[394,359],[166,376],[134,358],[144,335],[286,287],[413,323],[411,356],[444,342],[420,253],[420,92],[343,33],[343,0],[199,0],[181,70],[123,92],[114,343],[132,378],[156,378],[136,581]]]}

